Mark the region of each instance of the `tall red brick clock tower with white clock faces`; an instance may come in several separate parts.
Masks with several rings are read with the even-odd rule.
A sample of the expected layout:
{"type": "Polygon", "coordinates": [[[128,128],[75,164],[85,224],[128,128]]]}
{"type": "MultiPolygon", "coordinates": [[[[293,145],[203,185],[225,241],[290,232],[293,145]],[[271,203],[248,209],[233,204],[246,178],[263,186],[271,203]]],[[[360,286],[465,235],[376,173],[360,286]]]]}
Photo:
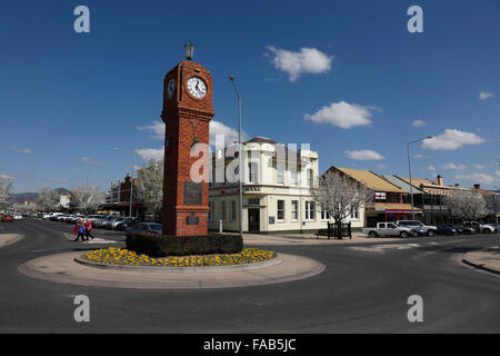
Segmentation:
{"type": "Polygon", "coordinates": [[[214,115],[212,76],[191,60],[192,50],[191,43],[186,44],[187,60],[172,68],[163,82],[163,235],[208,234],[209,182],[193,179],[191,167],[198,161],[197,167],[208,169],[209,157],[208,152],[191,157],[191,149],[197,144],[209,145],[209,123],[214,115]],[[204,165],[200,165],[202,159],[207,160],[204,165]]]}

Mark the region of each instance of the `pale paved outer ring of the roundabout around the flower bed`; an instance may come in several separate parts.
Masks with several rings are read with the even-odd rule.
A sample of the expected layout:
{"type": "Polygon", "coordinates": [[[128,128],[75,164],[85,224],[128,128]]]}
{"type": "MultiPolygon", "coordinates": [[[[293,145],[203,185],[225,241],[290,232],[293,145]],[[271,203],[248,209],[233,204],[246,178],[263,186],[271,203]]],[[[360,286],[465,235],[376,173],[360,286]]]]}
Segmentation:
{"type": "Polygon", "coordinates": [[[36,279],[88,287],[203,289],[299,280],[319,275],[324,268],[314,259],[289,254],[232,266],[156,267],[93,263],[77,251],[39,257],[19,266],[18,270],[36,279]]]}

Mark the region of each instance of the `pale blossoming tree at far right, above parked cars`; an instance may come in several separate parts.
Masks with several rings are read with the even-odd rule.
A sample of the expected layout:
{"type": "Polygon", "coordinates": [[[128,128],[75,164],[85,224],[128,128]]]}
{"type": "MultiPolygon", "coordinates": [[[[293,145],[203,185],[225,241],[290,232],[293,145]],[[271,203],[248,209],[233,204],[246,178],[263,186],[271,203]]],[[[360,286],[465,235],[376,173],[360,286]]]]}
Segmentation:
{"type": "Polygon", "coordinates": [[[464,220],[476,220],[490,212],[483,195],[474,190],[454,190],[444,197],[444,205],[452,216],[464,220]]]}

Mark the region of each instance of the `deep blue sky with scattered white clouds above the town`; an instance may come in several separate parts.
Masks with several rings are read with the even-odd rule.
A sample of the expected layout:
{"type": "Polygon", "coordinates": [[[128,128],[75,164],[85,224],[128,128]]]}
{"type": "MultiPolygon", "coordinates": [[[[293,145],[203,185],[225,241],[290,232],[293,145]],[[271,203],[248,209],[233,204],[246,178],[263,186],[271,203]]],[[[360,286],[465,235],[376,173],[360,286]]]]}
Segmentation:
{"type": "Polygon", "coordinates": [[[131,165],[111,147],[161,149],[163,77],[189,39],[219,129],[237,128],[232,73],[243,130],[310,144],[321,170],[408,176],[407,142],[431,135],[411,146],[413,177],[493,188],[499,19],[497,0],[1,1],[0,176],[108,189],[131,165]],[[90,33],[73,30],[79,4],[90,33]],[[423,33],[407,30],[413,4],[423,33]]]}

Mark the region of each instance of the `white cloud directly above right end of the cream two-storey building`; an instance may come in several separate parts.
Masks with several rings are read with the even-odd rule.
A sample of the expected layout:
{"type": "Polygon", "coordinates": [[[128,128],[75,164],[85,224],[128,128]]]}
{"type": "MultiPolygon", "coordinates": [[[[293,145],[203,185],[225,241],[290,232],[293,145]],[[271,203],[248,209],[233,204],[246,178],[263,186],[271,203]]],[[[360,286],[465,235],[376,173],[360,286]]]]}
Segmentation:
{"type": "Polygon", "coordinates": [[[348,103],[346,101],[332,102],[329,107],[322,107],[316,113],[304,115],[306,120],[317,123],[330,123],[342,129],[350,129],[354,126],[364,126],[371,123],[370,110],[373,107],[364,107],[357,103],[348,103]]]}

